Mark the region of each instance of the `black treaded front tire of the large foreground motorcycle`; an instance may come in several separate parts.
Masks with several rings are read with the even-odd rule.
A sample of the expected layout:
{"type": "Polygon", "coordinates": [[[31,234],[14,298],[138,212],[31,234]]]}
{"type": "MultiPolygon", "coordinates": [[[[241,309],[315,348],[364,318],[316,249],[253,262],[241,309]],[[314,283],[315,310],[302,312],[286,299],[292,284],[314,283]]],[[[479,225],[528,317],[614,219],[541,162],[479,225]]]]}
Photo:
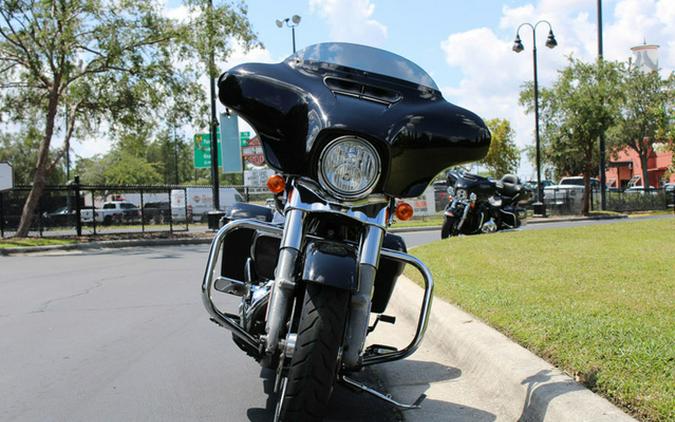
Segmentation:
{"type": "Polygon", "coordinates": [[[295,351],[282,380],[275,420],[322,420],[338,370],[350,293],[308,283],[295,351]]]}

